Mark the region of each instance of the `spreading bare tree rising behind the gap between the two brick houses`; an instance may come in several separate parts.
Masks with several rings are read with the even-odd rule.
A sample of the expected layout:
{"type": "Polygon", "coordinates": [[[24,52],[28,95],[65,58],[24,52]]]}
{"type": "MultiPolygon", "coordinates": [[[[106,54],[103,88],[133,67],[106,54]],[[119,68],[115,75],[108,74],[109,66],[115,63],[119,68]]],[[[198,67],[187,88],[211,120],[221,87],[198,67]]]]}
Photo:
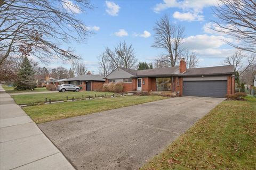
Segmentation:
{"type": "Polygon", "coordinates": [[[106,76],[117,67],[132,69],[138,60],[132,45],[127,45],[124,41],[120,42],[114,51],[107,47],[105,52],[98,56],[98,61],[100,74],[106,76]]]}

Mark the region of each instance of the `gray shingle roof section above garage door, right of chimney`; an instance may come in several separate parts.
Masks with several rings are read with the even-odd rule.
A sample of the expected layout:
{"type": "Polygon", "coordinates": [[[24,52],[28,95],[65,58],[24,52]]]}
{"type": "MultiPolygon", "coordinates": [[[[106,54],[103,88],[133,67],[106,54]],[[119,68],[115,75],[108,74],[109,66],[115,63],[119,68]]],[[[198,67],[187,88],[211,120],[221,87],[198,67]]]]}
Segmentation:
{"type": "Polygon", "coordinates": [[[194,75],[225,75],[234,74],[233,65],[215,66],[215,67],[201,67],[195,69],[187,69],[182,76],[194,76],[194,75]]]}

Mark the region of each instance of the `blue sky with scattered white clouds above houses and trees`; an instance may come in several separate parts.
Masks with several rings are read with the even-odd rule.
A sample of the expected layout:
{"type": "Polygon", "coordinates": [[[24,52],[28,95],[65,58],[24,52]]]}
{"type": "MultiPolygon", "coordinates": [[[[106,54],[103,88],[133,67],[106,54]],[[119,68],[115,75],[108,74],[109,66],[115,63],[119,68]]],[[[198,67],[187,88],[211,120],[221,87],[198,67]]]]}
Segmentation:
{"type": "MultiPolygon", "coordinates": [[[[71,0],[70,0],[71,1],[71,0]]],[[[76,10],[78,18],[83,20],[87,29],[94,34],[86,44],[71,43],[68,46],[82,56],[86,67],[94,74],[98,73],[97,56],[106,47],[113,49],[119,41],[132,44],[140,62],[153,62],[162,53],[160,49],[151,47],[154,43],[153,27],[164,14],[169,14],[172,24],[185,27],[184,46],[194,51],[199,57],[199,67],[221,65],[225,57],[230,56],[234,49],[225,41],[232,38],[214,32],[218,21],[214,18],[212,8],[217,5],[215,0],[199,1],[91,1],[94,8],[81,13],[76,10]]],[[[70,67],[69,64],[53,60],[47,67],[59,65],[70,67]]],[[[42,64],[42,66],[44,66],[42,64]]]]}

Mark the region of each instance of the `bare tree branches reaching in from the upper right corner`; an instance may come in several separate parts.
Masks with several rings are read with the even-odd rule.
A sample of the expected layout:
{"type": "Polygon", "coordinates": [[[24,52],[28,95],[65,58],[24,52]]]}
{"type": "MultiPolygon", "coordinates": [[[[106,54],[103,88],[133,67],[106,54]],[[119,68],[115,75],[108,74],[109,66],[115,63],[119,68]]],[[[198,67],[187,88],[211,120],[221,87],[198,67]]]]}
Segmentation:
{"type": "Polygon", "coordinates": [[[226,41],[229,45],[256,53],[256,3],[255,0],[219,0],[214,10],[219,18],[215,31],[235,37],[238,44],[226,41]]]}

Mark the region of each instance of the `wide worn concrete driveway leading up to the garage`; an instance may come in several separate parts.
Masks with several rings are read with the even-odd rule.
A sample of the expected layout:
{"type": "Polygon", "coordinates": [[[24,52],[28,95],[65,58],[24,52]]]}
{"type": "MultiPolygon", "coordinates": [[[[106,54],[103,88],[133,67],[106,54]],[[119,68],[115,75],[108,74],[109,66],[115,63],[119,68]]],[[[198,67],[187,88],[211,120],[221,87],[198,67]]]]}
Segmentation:
{"type": "Polygon", "coordinates": [[[38,126],[77,169],[138,169],[223,100],[169,98],[38,126]]]}

